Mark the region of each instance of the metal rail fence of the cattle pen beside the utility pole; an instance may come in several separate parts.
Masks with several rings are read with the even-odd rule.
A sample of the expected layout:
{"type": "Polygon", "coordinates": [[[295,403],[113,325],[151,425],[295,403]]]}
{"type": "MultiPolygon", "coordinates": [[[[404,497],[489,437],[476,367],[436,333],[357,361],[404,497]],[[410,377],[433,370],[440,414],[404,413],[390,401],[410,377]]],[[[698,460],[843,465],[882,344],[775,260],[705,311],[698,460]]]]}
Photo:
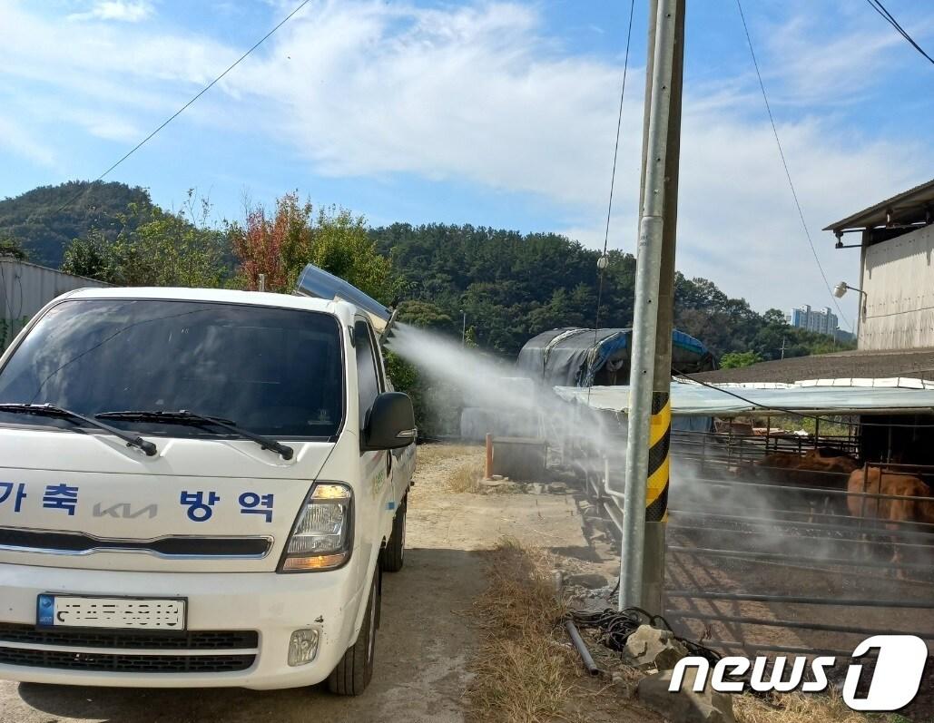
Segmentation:
{"type": "MultiPolygon", "coordinates": [[[[814,446],[852,452],[854,439],[808,441],[801,452],[814,446]]],[[[727,653],[849,656],[877,633],[911,633],[931,647],[934,524],[877,519],[876,507],[923,504],[934,512],[934,497],[872,487],[849,492],[847,474],[788,474],[761,464],[776,448],[798,452],[791,442],[727,431],[677,434],[665,617],[679,633],[727,653]]],[[[621,475],[622,467],[602,462],[602,469],[587,470],[587,491],[618,530],[621,507],[603,491],[607,475],[621,475]]],[[[864,468],[934,474],[922,466],[864,468]]]]}

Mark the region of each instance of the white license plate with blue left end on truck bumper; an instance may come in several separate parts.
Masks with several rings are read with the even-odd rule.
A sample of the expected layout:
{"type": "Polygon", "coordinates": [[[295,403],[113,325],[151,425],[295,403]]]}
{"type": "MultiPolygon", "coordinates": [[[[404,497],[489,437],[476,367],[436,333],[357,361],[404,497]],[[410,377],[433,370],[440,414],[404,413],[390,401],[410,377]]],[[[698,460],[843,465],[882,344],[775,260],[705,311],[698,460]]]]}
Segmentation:
{"type": "Polygon", "coordinates": [[[179,598],[39,595],[36,624],[42,627],[185,630],[185,600],[179,598]]]}

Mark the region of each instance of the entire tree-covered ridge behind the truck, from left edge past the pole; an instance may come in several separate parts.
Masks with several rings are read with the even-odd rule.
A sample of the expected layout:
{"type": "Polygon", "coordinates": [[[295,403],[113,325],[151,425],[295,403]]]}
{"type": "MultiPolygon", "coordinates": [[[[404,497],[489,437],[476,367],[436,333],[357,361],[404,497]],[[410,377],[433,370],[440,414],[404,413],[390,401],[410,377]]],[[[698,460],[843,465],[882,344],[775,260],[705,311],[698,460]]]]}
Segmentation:
{"type": "MultiPolygon", "coordinates": [[[[78,239],[70,248],[68,268],[80,275],[113,284],[242,286],[235,240],[262,240],[268,232],[269,243],[257,242],[261,256],[281,243],[294,246],[270,268],[287,257],[293,264],[315,258],[328,267],[330,258],[336,263],[328,267],[331,271],[346,273],[347,259],[334,259],[353,254],[364,268],[368,255],[389,257],[391,268],[385,263],[375,268],[389,274],[386,285],[395,286],[405,300],[403,318],[460,338],[466,313],[469,340],[507,358],[515,359],[522,345],[542,331],[592,327],[596,321],[599,252],[558,234],[443,224],[367,229],[362,219],[337,207],[318,208],[317,216],[297,192],[280,198],[275,210],[266,210],[269,229],[249,230],[266,212],[212,224],[206,220],[209,202],[191,194],[189,202],[190,213],[173,214],[153,206],[147,190],[121,183],[34,188],[0,201],[0,253],[19,254],[21,247],[35,263],[58,268],[65,247],[78,239]],[[244,226],[247,235],[238,237],[244,226]],[[276,229],[287,228],[289,238],[276,239],[276,229]]],[[[634,281],[635,259],[611,252],[601,327],[631,325],[634,281]]],[[[778,311],[756,313],[745,300],[729,299],[714,282],[680,273],[675,325],[715,355],[742,355],[728,357],[727,363],[777,358],[783,340],[785,356],[834,348],[829,337],[788,327],[778,311]]]]}

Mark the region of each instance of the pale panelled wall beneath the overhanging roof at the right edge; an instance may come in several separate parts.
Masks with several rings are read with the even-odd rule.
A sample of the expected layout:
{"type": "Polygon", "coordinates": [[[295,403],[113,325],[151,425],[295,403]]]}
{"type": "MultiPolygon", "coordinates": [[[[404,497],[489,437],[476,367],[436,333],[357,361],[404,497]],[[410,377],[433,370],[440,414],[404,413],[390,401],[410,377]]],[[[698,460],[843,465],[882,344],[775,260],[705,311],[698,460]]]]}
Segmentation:
{"type": "MultiPolygon", "coordinates": [[[[860,350],[934,347],[934,225],[865,250],[860,350]]],[[[893,372],[897,369],[893,369],[893,372]]]]}

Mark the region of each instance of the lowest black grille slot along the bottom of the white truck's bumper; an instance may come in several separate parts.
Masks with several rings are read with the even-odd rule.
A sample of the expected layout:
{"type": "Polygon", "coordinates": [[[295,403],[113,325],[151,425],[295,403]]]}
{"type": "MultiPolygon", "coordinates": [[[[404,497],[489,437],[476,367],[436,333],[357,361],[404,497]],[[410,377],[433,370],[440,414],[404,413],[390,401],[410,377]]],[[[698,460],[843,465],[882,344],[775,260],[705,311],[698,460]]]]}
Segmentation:
{"type": "Polygon", "coordinates": [[[255,655],[110,655],[0,647],[0,665],[106,673],[234,673],[247,670],[254,660],[255,655]]]}

